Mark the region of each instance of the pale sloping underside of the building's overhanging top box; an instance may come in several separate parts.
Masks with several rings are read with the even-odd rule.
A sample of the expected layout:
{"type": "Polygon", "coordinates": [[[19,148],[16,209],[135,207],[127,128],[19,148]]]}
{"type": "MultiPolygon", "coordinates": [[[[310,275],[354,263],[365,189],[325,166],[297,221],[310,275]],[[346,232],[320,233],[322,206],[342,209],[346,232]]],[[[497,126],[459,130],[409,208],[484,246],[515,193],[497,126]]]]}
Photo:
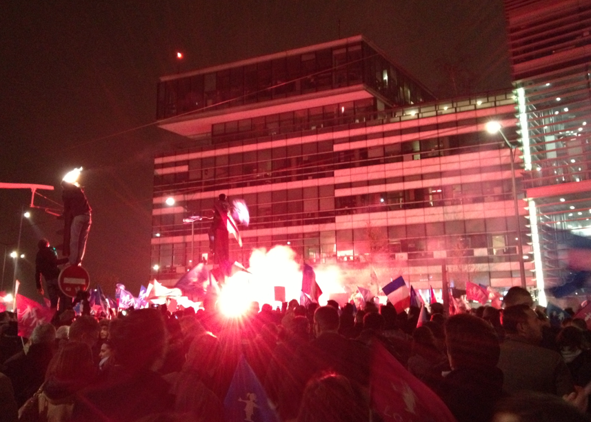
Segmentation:
{"type": "Polygon", "coordinates": [[[252,103],[245,106],[206,112],[194,112],[181,117],[163,119],[159,121],[158,126],[159,128],[180,134],[184,137],[194,137],[199,134],[210,133],[212,125],[216,123],[252,119],[253,117],[268,116],[269,114],[328,106],[330,104],[346,103],[348,101],[372,97],[377,97],[377,95],[369,90],[367,86],[359,84],[337,88],[335,90],[312,92],[310,94],[298,95],[297,97],[276,99],[264,103],[252,103]]]}

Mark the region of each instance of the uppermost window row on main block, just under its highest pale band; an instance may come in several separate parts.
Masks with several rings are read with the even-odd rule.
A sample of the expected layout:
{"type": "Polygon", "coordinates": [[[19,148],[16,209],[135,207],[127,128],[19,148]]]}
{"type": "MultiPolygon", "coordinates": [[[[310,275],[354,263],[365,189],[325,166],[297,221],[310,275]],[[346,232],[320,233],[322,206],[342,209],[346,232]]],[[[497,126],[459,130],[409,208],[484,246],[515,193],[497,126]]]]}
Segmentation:
{"type": "Polygon", "coordinates": [[[321,141],[186,161],[188,172],[154,176],[154,194],[171,188],[208,192],[320,179],[332,177],[334,170],[494,150],[499,143],[477,132],[356,150],[333,152],[332,148],[332,141],[321,141]]]}

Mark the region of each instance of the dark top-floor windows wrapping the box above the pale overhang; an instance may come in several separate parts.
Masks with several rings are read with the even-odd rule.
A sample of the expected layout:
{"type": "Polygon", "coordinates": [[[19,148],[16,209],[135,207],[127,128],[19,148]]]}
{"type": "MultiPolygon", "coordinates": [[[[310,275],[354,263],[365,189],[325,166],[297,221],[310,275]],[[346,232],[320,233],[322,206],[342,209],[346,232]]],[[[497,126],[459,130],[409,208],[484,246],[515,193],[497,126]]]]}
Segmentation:
{"type": "Polygon", "coordinates": [[[157,119],[359,83],[381,92],[392,104],[434,99],[368,44],[356,43],[163,81],[158,85],[157,119]]]}

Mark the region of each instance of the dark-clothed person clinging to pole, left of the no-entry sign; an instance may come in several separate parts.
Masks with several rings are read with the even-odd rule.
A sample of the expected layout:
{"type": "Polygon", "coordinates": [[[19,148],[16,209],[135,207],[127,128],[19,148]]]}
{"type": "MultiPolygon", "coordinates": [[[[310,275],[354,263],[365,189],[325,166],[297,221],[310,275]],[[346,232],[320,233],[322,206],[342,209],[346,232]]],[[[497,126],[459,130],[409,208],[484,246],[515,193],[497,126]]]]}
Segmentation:
{"type": "Polygon", "coordinates": [[[47,293],[51,303],[52,309],[58,309],[58,312],[63,312],[72,305],[72,299],[63,294],[59,288],[57,278],[59,277],[58,265],[68,262],[68,258],[57,258],[55,248],[52,248],[47,239],[41,239],[37,243],[39,251],[35,258],[35,283],[37,284],[37,292],[43,296],[43,284],[41,284],[41,275],[45,277],[47,285],[47,293]],[[58,308],[59,301],[59,308],[58,308]]]}

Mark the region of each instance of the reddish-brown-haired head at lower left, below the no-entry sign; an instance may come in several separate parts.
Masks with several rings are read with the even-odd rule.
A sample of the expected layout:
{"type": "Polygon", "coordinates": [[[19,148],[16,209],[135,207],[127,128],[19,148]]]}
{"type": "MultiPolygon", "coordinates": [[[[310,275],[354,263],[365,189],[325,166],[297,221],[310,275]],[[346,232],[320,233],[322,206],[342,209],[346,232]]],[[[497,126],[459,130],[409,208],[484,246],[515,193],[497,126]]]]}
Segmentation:
{"type": "Polygon", "coordinates": [[[90,346],[81,341],[68,341],[59,348],[49,363],[46,381],[54,379],[64,383],[88,384],[96,370],[90,346]]]}

